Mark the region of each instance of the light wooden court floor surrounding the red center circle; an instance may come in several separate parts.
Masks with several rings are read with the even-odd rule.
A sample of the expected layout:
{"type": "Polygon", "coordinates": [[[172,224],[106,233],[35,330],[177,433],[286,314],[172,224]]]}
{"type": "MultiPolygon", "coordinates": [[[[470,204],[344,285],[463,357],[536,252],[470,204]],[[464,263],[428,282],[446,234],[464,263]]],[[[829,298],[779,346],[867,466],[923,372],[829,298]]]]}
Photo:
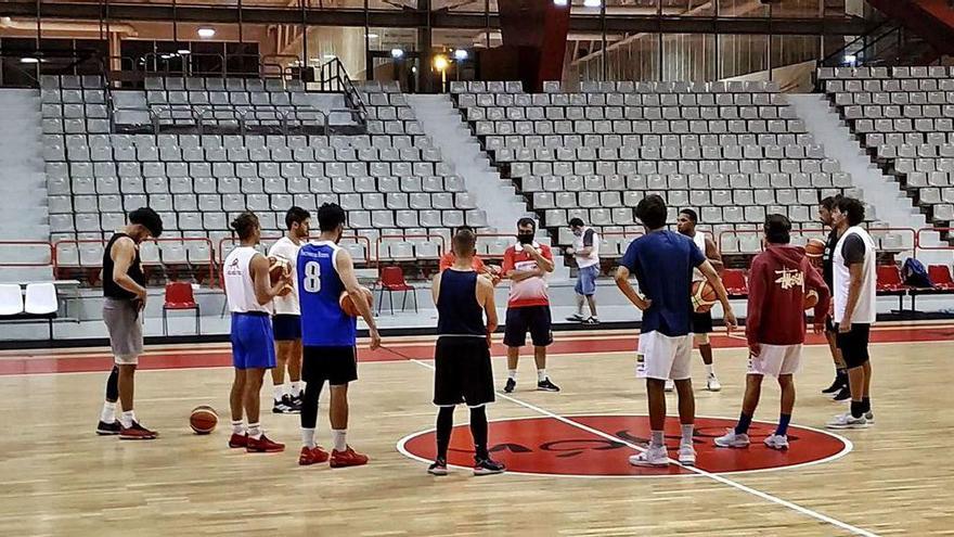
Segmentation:
{"type": "MultiPolygon", "coordinates": [[[[360,366],[361,380],[351,392],[349,442],[372,462],[356,469],[299,468],[297,417],[265,415],[269,435],[288,444],[279,455],[229,450],[228,426],[208,436],[191,434],[185,422],[194,406],[212,405],[228,419],[228,368],[142,371],[137,413],[162,432],[151,443],[93,434],[102,372],[4,374],[0,535],[951,534],[954,464],[947,447],[954,395],[949,360],[954,331],[933,330],[943,341],[873,347],[876,425],[842,433],[853,444],[850,452],[817,464],[756,473],[473,477],[456,470],[448,477],[431,477],[424,463],[397,449],[401,438],[434,423],[428,362],[401,356],[426,355],[420,340],[404,350],[386,341],[396,350],[390,360],[360,366]]],[[[551,358],[549,370],[563,392],[530,391],[532,359],[525,358],[515,400],[499,399],[490,418],[644,414],[645,388],[633,378],[632,354],[607,343],[635,345],[621,335],[631,337],[557,334],[566,345],[576,342],[579,347],[551,358]],[[600,351],[604,347],[617,350],[600,351]]],[[[705,375],[696,363],[697,413],[735,419],[746,365],[739,347],[744,342],[723,337],[718,343],[723,347],[715,359],[724,389],[701,389],[705,375]]],[[[20,359],[25,359],[23,353],[0,356],[0,361],[20,359]]],[[[494,368],[502,382],[502,358],[494,359],[494,368]]],[[[796,424],[823,429],[846,409],[818,393],[830,376],[827,349],[808,348],[797,378],[796,424]]],[[[775,420],[777,393],[766,383],[758,419],[775,420]]],[[[267,400],[266,391],[263,396],[267,400]]],[[[327,445],[325,399],[319,442],[327,445]]],[[[671,411],[674,401],[671,397],[671,411]]],[[[465,422],[465,411],[459,410],[456,418],[465,422]]],[[[491,444],[506,440],[495,436],[492,425],[491,444]]],[[[626,447],[603,457],[633,452],[626,447]]]]}

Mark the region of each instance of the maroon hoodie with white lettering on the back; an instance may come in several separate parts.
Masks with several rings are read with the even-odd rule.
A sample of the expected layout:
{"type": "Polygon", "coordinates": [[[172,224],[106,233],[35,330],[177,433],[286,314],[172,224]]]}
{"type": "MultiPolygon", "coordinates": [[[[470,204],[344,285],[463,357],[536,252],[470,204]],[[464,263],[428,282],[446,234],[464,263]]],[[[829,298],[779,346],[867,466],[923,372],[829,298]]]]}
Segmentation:
{"type": "Polygon", "coordinates": [[[804,294],[818,293],[815,319],[828,315],[829,291],[804,248],[771,244],[752,259],[749,270],[749,306],[746,338],[749,344],[804,343],[804,294]]]}

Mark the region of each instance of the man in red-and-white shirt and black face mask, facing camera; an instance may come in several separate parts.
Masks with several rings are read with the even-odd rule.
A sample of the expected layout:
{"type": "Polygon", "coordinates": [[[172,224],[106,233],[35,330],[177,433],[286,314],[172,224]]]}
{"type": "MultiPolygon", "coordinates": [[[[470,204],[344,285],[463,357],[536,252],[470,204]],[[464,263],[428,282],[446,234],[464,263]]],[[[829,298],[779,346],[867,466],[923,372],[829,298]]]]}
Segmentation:
{"type": "Polygon", "coordinates": [[[553,272],[553,253],[550,246],[533,240],[536,233],[537,222],[532,218],[520,218],[517,243],[503,255],[502,276],[512,282],[503,335],[507,347],[507,381],[503,391],[508,394],[517,387],[517,362],[520,347],[527,344],[528,331],[537,362],[537,389],[559,392],[546,375],[546,347],[553,343],[546,274],[553,272]]]}

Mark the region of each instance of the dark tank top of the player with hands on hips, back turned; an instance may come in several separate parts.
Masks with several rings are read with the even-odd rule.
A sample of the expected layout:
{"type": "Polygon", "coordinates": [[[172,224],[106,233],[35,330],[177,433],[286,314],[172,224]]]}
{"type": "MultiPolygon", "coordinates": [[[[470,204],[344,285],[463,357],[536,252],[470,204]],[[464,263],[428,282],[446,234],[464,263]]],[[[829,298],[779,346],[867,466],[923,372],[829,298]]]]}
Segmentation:
{"type": "Polygon", "coordinates": [[[477,303],[477,272],[447,269],[437,296],[437,334],[484,337],[484,308],[477,303]]]}

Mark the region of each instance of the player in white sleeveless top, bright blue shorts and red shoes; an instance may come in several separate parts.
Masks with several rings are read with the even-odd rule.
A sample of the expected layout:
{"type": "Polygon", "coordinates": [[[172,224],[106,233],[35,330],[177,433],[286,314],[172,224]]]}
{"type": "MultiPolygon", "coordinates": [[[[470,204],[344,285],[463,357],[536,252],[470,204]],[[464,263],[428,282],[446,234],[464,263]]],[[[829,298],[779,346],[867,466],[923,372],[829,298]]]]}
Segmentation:
{"type": "Polygon", "coordinates": [[[238,215],[232,221],[232,229],[240,242],[225,257],[222,269],[232,312],[232,365],[235,368],[229,396],[232,407],[229,447],[245,448],[249,453],[284,451],[285,445],[270,440],[258,420],[265,371],[275,367],[271,303],[289,280],[285,274],[272,285],[269,260],[255,250],[261,239],[261,226],[254,213],[238,215]],[[247,420],[245,426],[243,412],[247,420]]]}

